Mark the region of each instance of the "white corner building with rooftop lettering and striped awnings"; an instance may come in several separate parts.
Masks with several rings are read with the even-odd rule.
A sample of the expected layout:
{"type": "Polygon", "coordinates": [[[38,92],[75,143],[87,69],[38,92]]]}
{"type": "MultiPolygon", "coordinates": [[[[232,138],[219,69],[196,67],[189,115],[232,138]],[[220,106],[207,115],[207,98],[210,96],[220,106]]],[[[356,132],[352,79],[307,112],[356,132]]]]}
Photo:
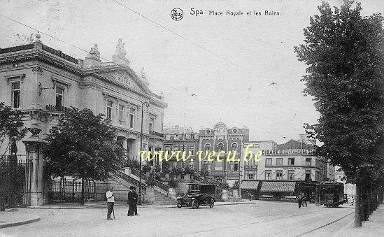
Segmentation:
{"type": "MultiPolygon", "coordinates": [[[[242,153],[249,144],[244,143],[242,153]]],[[[312,193],[315,183],[327,179],[327,162],[313,154],[313,141],[291,139],[280,145],[268,141],[253,144],[248,150],[254,154],[261,151],[262,156],[257,163],[244,163],[243,198],[252,195],[261,199],[294,199],[294,192],[312,193]]]]}

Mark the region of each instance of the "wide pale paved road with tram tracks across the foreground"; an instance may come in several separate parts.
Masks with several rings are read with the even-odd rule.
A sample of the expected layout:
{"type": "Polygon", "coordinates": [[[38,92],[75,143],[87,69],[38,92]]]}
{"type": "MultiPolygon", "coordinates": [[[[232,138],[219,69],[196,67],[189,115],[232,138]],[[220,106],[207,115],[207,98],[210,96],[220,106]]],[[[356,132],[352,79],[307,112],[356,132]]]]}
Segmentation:
{"type": "Polygon", "coordinates": [[[258,201],[253,204],[215,206],[213,209],[115,208],[115,220],[106,220],[106,208],[78,210],[21,210],[39,215],[40,222],[1,229],[3,236],[332,236],[343,227],[352,208],[325,208],[309,204],[258,201]],[[327,227],[329,222],[346,216],[327,227]],[[332,227],[332,228],[331,228],[332,227]],[[312,231],[312,232],[309,232],[312,231]]]}

